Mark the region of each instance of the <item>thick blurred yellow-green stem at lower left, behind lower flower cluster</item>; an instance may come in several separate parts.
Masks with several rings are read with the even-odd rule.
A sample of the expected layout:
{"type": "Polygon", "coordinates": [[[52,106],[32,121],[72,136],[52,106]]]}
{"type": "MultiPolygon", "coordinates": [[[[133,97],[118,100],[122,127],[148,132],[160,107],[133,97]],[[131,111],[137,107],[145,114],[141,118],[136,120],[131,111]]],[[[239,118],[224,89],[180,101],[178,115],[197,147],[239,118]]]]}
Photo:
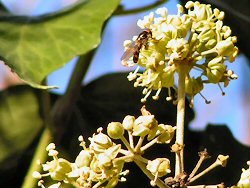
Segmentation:
{"type": "Polygon", "coordinates": [[[45,148],[47,147],[48,143],[50,143],[52,140],[51,132],[48,128],[45,128],[43,131],[43,134],[40,138],[40,141],[38,143],[38,146],[36,148],[34,157],[31,161],[31,165],[29,167],[29,170],[25,176],[22,188],[32,188],[37,187],[37,179],[35,179],[32,174],[34,171],[40,171],[41,165],[37,164],[37,161],[40,160],[41,163],[44,163],[47,159],[47,151],[45,148]]]}

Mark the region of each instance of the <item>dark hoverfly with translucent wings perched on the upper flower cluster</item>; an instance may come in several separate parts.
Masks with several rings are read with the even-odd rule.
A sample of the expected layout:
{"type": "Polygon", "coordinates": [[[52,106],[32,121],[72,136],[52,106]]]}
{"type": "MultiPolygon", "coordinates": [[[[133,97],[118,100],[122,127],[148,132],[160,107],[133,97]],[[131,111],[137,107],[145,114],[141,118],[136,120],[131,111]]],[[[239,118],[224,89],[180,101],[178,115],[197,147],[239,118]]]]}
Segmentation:
{"type": "Polygon", "coordinates": [[[124,52],[121,57],[122,65],[128,66],[127,61],[133,56],[134,63],[138,62],[140,50],[143,46],[146,46],[148,40],[152,38],[152,32],[150,29],[142,31],[137,39],[132,42],[128,49],[124,52]]]}

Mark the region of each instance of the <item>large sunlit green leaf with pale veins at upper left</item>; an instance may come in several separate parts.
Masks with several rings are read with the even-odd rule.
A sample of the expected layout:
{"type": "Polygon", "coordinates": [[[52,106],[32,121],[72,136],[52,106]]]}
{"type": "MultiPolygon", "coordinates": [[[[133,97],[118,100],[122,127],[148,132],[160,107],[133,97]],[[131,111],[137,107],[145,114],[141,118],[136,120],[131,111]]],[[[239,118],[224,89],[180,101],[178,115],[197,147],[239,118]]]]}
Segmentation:
{"type": "Polygon", "coordinates": [[[0,18],[0,55],[33,87],[77,55],[98,46],[102,25],[120,0],[89,0],[53,17],[0,18]]]}

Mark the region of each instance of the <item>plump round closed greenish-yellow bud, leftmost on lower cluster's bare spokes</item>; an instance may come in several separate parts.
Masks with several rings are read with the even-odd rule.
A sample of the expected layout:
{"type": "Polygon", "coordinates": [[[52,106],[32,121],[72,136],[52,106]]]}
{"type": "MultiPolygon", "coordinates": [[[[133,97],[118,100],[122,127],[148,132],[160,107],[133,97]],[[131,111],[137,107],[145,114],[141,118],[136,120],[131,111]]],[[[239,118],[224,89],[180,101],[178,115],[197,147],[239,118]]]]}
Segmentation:
{"type": "Polygon", "coordinates": [[[111,122],[108,124],[108,135],[113,139],[120,139],[124,134],[124,128],[120,122],[111,122]]]}

